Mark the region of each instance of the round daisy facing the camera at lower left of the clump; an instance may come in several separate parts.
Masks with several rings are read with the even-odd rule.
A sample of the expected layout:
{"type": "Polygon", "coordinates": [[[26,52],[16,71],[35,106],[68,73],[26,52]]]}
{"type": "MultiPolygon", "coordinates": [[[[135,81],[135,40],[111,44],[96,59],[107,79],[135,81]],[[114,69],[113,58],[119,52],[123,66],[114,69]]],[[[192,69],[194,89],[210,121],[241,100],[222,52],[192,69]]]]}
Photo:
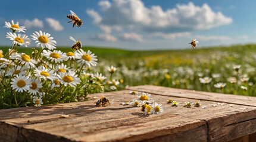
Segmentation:
{"type": "Polygon", "coordinates": [[[17,75],[11,79],[11,87],[16,92],[29,91],[31,86],[31,78],[29,76],[17,75]]]}

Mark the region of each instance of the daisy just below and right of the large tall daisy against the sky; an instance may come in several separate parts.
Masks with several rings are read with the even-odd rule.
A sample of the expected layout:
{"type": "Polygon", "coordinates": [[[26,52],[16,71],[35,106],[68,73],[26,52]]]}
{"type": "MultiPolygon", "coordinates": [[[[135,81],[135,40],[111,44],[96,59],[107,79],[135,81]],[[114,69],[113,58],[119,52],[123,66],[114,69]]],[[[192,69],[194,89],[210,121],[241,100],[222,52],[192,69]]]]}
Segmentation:
{"type": "Polygon", "coordinates": [[[65,54],[63,54],[60,50],[43,50],[43,56],[45,56],[48,60],[54,63],[60,63],[65,60],[65,54]]]}

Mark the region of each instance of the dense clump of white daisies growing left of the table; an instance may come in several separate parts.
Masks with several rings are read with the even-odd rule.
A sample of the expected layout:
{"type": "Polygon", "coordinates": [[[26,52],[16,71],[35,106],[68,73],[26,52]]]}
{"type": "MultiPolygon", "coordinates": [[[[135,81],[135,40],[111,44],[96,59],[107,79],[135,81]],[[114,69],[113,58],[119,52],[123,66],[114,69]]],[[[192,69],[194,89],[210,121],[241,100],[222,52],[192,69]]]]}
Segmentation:
{"type": "Polygon", "coordinates": [[[35,31],[30,38],[20,33],[26,33],[26,29],[18,22],[5,22],[4,27],[12,31],[6,37],[13,41],[13,47],[5,54],[0,50],[0,89],[8,94],[4,99],[15,101],[15,105],[5,107],[72,102],[88,93],[118,89],[119,80],[112,79],[116,67],[106,68],[108,79],[92,72],[90,67],[98,64],[92,51],[75,49],[64,53],[57,50],[57,42],[49,33],[35,31]],[[31,39],[37,49],[33,48],[31,54],[19,53],[19,47],[29,46],[31,39]]]}

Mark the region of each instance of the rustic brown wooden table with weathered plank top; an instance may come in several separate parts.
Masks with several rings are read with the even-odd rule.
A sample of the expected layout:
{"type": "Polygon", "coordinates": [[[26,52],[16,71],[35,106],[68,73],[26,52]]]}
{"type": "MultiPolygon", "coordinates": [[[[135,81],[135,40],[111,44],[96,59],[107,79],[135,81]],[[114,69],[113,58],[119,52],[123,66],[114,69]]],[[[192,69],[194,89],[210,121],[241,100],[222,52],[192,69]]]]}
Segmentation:
{"type": "Polygon", "coordinates": [[[160,86],[88,95],[89,101],[0,110],[0,141],[255,141],[256,97],[227,95],[160,86]],[[140,108],[120,105],[148,92],[164,112],[145,115],[140,108]],[[115,99],[96,107],[94,97],[115,99]],[[167,99],[180,102],[177,107],[167,99]],[[201,102],[183,108],[184,102],[201,102]],[[60,118],[60,115],[70,115],[60,118]]]}

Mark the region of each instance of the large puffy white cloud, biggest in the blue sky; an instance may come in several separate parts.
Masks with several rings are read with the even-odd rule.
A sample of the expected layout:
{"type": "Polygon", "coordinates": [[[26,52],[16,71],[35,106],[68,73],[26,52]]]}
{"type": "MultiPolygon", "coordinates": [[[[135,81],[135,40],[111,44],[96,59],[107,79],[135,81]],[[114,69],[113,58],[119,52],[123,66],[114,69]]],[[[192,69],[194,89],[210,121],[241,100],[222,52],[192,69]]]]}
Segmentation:
{"type": "Polygon", "coordinates": [[[99,7],[103,10],[102,15],[93,9],[87,11],[95,24],[121,28],[133,26],[154,32],[174,28],[210,29],[233,21],[221,12],[214,12],[208,4],[200,7],[192,2],[184,5],[177,4],[176,8],[166,11],[158,5],[147,8],[142,1],[138,0],[115,0],[111,3],[101,1],[99,7]]]}

